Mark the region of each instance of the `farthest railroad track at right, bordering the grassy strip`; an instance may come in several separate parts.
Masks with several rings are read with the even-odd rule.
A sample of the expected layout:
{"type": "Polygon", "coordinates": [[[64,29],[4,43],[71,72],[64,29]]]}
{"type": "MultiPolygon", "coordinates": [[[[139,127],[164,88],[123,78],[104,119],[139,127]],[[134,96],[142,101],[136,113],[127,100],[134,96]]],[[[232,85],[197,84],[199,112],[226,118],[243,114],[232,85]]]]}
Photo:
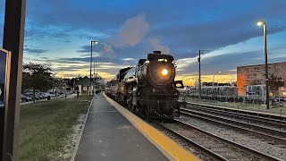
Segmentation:
{"type": "Polygon", "coordinates": [[[243,114],[233,111],[228,111],[222,108],[210,107],[210,106],[199,106],[196,104],[188,105],[191,109],[204,112],[207,114],[215,114],[223,117],[229,117],[235,120],[244,121],[245,123],[255,123],[263,126],[267,126],[280,131],[286,131],[286,121],[277,120],[273,118],[267,118],[253,114],[243,114]]]}

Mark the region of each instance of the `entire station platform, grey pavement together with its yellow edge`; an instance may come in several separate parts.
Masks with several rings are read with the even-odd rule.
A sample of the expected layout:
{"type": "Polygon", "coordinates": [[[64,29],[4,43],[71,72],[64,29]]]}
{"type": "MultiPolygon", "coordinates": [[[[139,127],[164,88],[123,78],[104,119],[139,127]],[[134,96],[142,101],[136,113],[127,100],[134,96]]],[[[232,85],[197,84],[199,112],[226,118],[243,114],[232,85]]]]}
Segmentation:
{"type": "Polygon", "coordinates": [[[137,119],[114,100],[98,95],[89,108],[75,160],[198,160],[137,119]]]}

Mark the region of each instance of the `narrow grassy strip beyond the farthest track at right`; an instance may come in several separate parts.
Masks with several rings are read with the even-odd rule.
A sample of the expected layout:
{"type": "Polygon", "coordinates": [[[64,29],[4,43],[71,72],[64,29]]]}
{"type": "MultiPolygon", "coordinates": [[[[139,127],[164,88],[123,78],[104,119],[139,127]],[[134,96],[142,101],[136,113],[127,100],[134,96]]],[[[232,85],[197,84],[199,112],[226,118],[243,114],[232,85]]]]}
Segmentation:
{"type": "Polygon", "coordinates": [[[245,104],[245,103],[224,103],[220,101],[215,100],[209,100],[209,99],[201,99],[198,98],[192,98],[192,97],[186,97],[186,101],[194,102],[194,103],[204,103],[207,105],[213,105],[213,106],[226,106],[226,107],[232,107],[232,108],[243,108],[243,109],[252,109],[252,110],[258,110],[258,111],[264,111],[264,112],[271,112],[276,114],[286,114],[286,106],[270,106],[270,109],[266,109],[265,105],[258,105],[258,104],[245,104]]]}

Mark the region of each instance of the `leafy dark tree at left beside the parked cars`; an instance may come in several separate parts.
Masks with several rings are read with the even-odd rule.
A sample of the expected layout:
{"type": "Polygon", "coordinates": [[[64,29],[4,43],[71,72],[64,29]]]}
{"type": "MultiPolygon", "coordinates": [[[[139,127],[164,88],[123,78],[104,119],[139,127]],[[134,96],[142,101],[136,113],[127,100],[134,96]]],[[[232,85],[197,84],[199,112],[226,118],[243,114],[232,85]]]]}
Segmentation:
{"type": "Polygon", "coordinates": [[[44,64],[24,64],[22,90],[32,89],[35,101],[36,90],[46,91],[54,87],[55,79],[52,74],[52,69],[44,64]]]}

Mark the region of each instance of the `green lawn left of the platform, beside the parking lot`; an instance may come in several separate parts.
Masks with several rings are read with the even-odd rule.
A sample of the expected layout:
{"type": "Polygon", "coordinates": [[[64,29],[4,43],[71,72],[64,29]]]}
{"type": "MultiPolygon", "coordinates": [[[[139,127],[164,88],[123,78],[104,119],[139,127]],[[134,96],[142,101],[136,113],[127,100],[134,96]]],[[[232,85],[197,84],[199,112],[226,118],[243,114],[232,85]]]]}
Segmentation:
{"type": "Polygon", "coordinates": [[[86,114],[89,97],[53,99],[21,106],[18,160],[63,160],[73,126],[86,114]]]}

